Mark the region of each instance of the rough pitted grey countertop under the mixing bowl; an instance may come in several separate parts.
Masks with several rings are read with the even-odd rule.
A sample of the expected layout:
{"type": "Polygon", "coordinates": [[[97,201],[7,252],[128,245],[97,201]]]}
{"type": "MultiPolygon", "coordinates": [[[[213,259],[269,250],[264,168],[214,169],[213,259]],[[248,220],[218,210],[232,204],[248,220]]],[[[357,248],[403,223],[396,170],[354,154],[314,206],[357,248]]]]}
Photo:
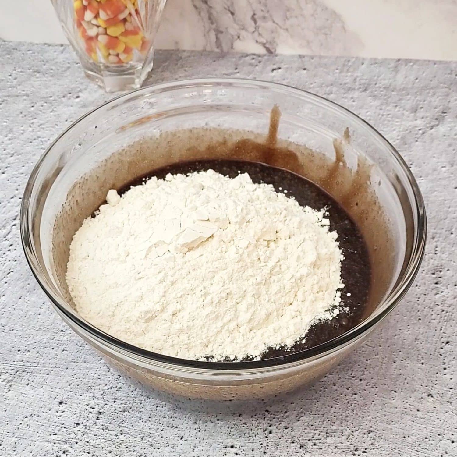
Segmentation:
{"type": "Polygon", "coordinates": [[[457,455],[457,63],[157,54],[147,84],[252,77],[346,106],[399,149],[427,207],[421,271],[367,344],[311,388],[218,404],[134,387],[53,312],[22,253],[22,192],[53,138],[109,96],[66,46],[0,43],[0,62],[0,455],[457,455]]]}

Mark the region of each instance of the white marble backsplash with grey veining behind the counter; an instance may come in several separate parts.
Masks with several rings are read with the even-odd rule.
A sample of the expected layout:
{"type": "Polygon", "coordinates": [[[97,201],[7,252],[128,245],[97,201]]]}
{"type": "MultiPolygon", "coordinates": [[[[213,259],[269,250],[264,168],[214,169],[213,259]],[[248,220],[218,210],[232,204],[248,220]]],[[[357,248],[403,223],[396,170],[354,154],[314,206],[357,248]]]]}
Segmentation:
{"type": "MultiPolygon", "coordinates": [[[[0,38],[66,43],[49,0],[4,3],[0,38]]],[[[457,0],[168,0],[156,47],[457,60],[457,0]]]]}

